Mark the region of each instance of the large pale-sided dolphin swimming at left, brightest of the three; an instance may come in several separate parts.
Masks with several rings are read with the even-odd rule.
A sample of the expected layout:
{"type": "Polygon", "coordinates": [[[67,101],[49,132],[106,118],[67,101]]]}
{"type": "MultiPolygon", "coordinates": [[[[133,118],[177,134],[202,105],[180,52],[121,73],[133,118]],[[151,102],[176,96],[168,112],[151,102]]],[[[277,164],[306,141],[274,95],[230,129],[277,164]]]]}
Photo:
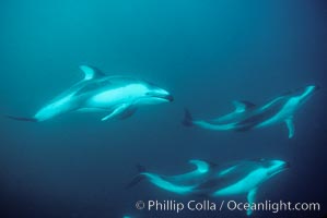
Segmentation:
{"type": "Polygon", "coordinates": [[[40,122],[72,112],[105,112],[102,121],[133,114],[138,106],[173,101],[173,96],[149,82],[107,76],[90,65],[80,65],[84,78],[40,108],[33,118],[8,116],[21,121],[40,122]]]}

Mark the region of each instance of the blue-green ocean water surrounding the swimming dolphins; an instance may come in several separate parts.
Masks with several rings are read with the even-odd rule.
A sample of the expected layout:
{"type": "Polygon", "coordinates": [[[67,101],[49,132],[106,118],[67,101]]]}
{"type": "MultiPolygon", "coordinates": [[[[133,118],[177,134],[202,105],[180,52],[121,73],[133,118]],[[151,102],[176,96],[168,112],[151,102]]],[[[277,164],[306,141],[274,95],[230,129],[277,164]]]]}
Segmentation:
{"type": "MultiPolygon", "coordinates": [[[[82,80],[80,64],[145,78],[175,101],[125,121],[70,113],[42,123],[0,119],[0,217],[246,217],[243,211],[147,213],[139,199],[188,201],[149,182],[131,190],[136,164],[163,174],[189,159],[218,164],[277,158],[291,168],[259,187],[257,202],[318,202],[320,211],[253,217],[323,217],[326,199],[327,3],[324,0],[2,0],[0,112],[33,116],[82,80]],[[322,89],[287,128],[214,132],[180,124],[258,105],[288,90],[322,89]]],[[[245,201],[245,196],[235,197],[245,201]]],[[[221,199],[215,199],[221,201],[221,199]]]]}

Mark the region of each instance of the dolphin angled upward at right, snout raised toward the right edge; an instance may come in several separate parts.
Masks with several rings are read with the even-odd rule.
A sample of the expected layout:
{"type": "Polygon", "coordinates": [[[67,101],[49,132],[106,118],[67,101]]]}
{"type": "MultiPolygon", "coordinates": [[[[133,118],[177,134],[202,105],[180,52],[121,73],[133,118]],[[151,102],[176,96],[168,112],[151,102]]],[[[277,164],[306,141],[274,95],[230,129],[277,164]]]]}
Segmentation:
{"type": "Polygon", "coordinates": [[[294,112],[318,90],[318,86],[310,85],[277,97],[268,104],[258,107],[249,101],[233,101],[235,110],[226,116],[212,120],[192,120],[185,109],[183,124],[199,126],[214,131],[248,131],[284,122],[289,130],[289,138],[293,137],[294,112]]]}

